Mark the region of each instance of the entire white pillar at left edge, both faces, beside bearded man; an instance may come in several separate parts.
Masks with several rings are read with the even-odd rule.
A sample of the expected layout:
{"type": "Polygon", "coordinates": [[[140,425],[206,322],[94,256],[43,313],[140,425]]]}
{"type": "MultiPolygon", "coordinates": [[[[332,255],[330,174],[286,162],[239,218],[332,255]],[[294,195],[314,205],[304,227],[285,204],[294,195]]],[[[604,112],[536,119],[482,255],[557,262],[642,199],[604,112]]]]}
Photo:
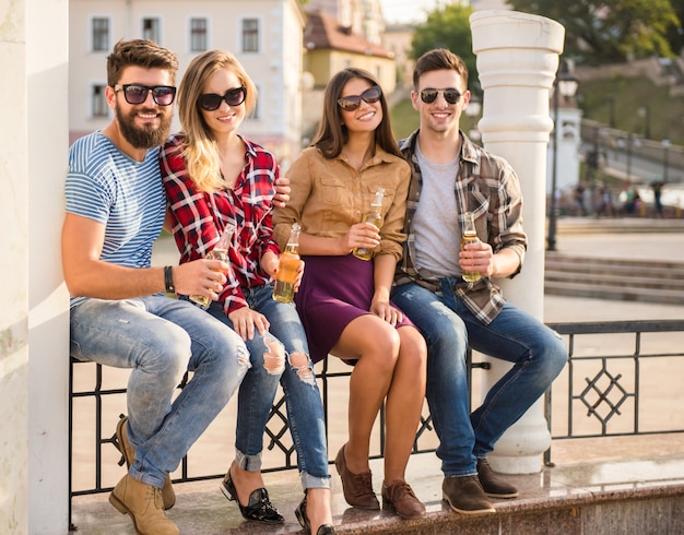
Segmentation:
{"type": "Polygon", "coordinates": [[[68,531],[69,2],[0,2],[0,533],[68,531]]]}

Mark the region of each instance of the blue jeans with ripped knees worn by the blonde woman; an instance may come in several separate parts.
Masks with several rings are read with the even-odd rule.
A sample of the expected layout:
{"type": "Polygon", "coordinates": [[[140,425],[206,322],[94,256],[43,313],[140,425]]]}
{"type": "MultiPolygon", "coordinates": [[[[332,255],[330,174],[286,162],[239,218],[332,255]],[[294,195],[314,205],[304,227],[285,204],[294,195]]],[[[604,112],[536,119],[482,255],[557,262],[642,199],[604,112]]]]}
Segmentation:
{"type": "MultiPolygon", "coordinates": [[[[249,308],[266,316],[271,326],[264,335],[255,330],[253,338],[246,342],[251,368],[238,394],[235,461],[240,468],[260,469],[263,431],[280,383],[302,485],[329,488],[323,404],[297,310],[294,304],[273,300],[273,284],[243,288],[243,293],[249,308]]],[[[223,305],[213,301],[208,311],[233,326],[223,305]]]]}

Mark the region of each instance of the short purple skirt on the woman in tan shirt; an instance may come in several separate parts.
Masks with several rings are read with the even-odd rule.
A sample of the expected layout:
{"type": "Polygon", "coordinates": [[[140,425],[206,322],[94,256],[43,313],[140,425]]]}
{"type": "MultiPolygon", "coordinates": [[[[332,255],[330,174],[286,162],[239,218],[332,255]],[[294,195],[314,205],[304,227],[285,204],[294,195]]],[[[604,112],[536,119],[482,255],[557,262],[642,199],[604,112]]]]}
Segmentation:
{"type": "MultiPolygon", "coordinates": [[[[353,254],[302,257],[302,260],[306,264],[295,304],[311,360],[318,362],[326,358],[353,319],[372,313],[373,261],[359,260],[353,254]]],[[[391,306],[399,310],[394,304],[391,306]]],[[[412,324],[403,314],[397,328],[412,324]]]]}

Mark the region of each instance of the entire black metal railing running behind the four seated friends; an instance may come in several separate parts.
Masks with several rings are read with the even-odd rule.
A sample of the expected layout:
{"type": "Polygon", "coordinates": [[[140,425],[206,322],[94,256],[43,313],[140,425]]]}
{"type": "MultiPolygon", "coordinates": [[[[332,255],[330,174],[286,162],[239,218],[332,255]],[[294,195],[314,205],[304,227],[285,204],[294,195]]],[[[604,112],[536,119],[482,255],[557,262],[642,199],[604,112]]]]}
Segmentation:
{"type": "MultiPolygon", "coordinates": [[[[676,377],[684,374],[684,320],[668,321],[612,321],[612,322],[588,322],[588,323],[553,323],[550,326],[561,335],[567,336],[570,360],[567,369],[555,381],[553,387],[554,395],[549,392],[545,397],[546,417],[553,439],[581,439],[592,437],[625,436],[625,435],[647,435],[665,432],[684,432],[681,417],[679,425],[664,426],[658,428],[652,423],[649,426],[641,425],[644,419],[644,374],[649,370],[644,370],[645,360],[662,360],[676,362],[676,369],[672,373],[676,377]],[[670,338],[663,338],[665,333],[670,333],[670,338]],[[599,355],[595,353],[591,337],[609,336],[609,344],[602,340],[602,347],[611,347],[611,353],[599,355]],[[646,337],[656,335],[657,344],[646,337]],[[625,341],[627,338],[627,342],[625,341]],[[589,342],[586,342],[589,340],[589,342]],[[663,350],[663,344],[667,350],[663,350]],[[653,346],[652,349],[647,346],[653,346]],[[625,364],[627,362],[627,364],[625,364]],[[559,394],[563,393],[561,396],[559,394]],[[561,416],[564,416],[561,420],[561,416]],[[628,420],[625,424],[625,420],[628,420]],[[565,425],[562,425],[565,421],[565,425]],[[592,427],[593,426],[593,427],[592,427]]],[[[473,368],[487,369],[488,362],[472,362],[472,355],[468,354],[469,370],[473,368]]],[[[662,367],[662,365],[661,365],[662,367]]],[[[675,368],[673,367],[673,368],[675,368]]],[[[646,367],[648,368],[648,367],[646,367]]],[[[71,500],[74,496],[97,494],[111,490],[111,484],[103,483],[103,463],[111,464],[111,459],[119,459],[115,447],[115,426],[103,424],[103,411],[109,416],[123,412],[126,407],[126,388],[120,384],[111,384],[107,380],[106,373],[109,368],[103,368],[94,364],[71,364],[70,370],[70,411],[69,411],[69,523],[71,525],[71,500]],[[78,368],[78,370],[76,370],[78,368]],[[84,379],[80,377],[80,383],[90,382],[87,388],[74,389],[74,372],[82,369],[92,373],[92,377],[84,379]],[[93,451],[90,452],[85,461],[93,465],[93,474],[89,477],[90,483],[79,482],[74,486],[73,475],[73,441],[74,441],[74,406],[86,404],[80,407],[79,414],[84,411],[90,414],[94,421],[94,432],[82,433],[87,436],[93,451]],[[106,430],[104,429],[106,427],[106,430]],[[75,488],[74,488],[75,487],[75,488]]],[[[657,370],[658,371],[658,370],[657,370]]],[[[117,373],[121,373],[118,370],[117,373]]],[[[326,359],[320,370],[317,369],[317,378],[323,400],[326,413],[326,429],[330,429],[331,395],[334,392],[333,381],[347,381],[351,374],[350,368],[337,366],[337,359],[326,359]],[[332,364],[331,364],[332,362],[332,364]]],[[[122,376],[120,376],[122,377],[122,376]]],[[[126,376],[127,377],[127,376],[126,376]]],[[[651,380],[652,381],[652,380],[651,380]]],[[[469,374],[469,385],[472,385],[472,377],[469,374]]],[[[472,392],[472,389],[471,389],[472,392]]],[[[647,394],[650,395],[650,394],[647,394]]],[[[472,396],[471,396],[472,402],[472,396]]],[[[477,400],[474,401],[477,403],[477,400]]],[[[662,411],[662,406],[659,407],[662,411]]],[[[679,407],[668,407],[669,411],[676,411],[679,407]]],[[[684,412],[684,408],[681,408],[684,412]]],[[[384,412],[380,412],[378,443],[372,448],[376,453],[373,459],[381,457],[385,451],[384,412]]],[[[85,426],[85,421],[80,423],[80,428],[85,426]]],[[[296,453],[287,432],[287,415],[285,412],[285,400],[282,392],[276,400],[269,415],[266,429],[267,450],[275,452],[276,461],[271,461],[264,465],[263,472],[274,472],[296,467],[296,453]]],[[[81,439],[80,439],[81,440],[81,439]]],[[[329,441],[330,442],[330,441],[329,441]]],[[[427,408],[421,417],[421,424],[416,433],[413,447],[414,453],[433,452],[436,449],[437,438],[432,426],[432,418],[427,408]]],[[[193,447],[194,449],[194,447],[193,447]]],[[[198,473],[197,468],[190,471],[193,449],[182,461],[180,476],[174,478],[178,482],[196,482],[223,477],[224,473],[215,473],[214,466],[210,473],[198,473]]],[[[83,450],[81,444],[80,450],[83,450]]],[[[551,464],[551,449],[545,453],[544,461],[551,464]]],[[[122,464],[122,460],[120,462],[122,464]]],[[[207,465],[207,463],[202,463],[207,465]]]]}

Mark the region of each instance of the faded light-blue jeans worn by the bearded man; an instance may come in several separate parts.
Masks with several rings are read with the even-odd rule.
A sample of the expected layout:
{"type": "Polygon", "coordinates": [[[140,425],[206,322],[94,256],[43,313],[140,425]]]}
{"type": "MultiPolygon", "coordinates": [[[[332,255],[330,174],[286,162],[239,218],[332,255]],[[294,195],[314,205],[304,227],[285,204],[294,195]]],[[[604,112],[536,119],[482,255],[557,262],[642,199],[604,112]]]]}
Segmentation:
{"type": "Polygon", "coordinates": [[[129,474],[162,487],[228,403],[249,368],[240,337],[187,301],[162,295],[85,299],[71,308],[71,356],[132,368],[129,474]],[[192,378],[174,399],[186,370],[192,378]]]}

